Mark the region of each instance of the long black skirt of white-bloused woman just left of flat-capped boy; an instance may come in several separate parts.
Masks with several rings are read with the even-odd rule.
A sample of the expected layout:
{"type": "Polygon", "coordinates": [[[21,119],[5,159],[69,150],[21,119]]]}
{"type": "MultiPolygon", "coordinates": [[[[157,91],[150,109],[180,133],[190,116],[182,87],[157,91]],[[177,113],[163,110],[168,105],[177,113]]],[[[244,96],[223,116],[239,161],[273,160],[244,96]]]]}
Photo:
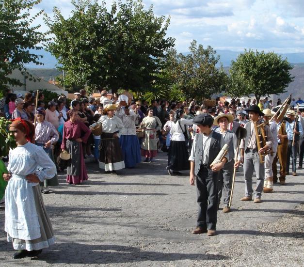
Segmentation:
{"type": "Polygon", "coordinates": [[[171,141],[168,156],[168,168],[173,171],[190,170],[189,154],[185,141],[171,141]]]}

